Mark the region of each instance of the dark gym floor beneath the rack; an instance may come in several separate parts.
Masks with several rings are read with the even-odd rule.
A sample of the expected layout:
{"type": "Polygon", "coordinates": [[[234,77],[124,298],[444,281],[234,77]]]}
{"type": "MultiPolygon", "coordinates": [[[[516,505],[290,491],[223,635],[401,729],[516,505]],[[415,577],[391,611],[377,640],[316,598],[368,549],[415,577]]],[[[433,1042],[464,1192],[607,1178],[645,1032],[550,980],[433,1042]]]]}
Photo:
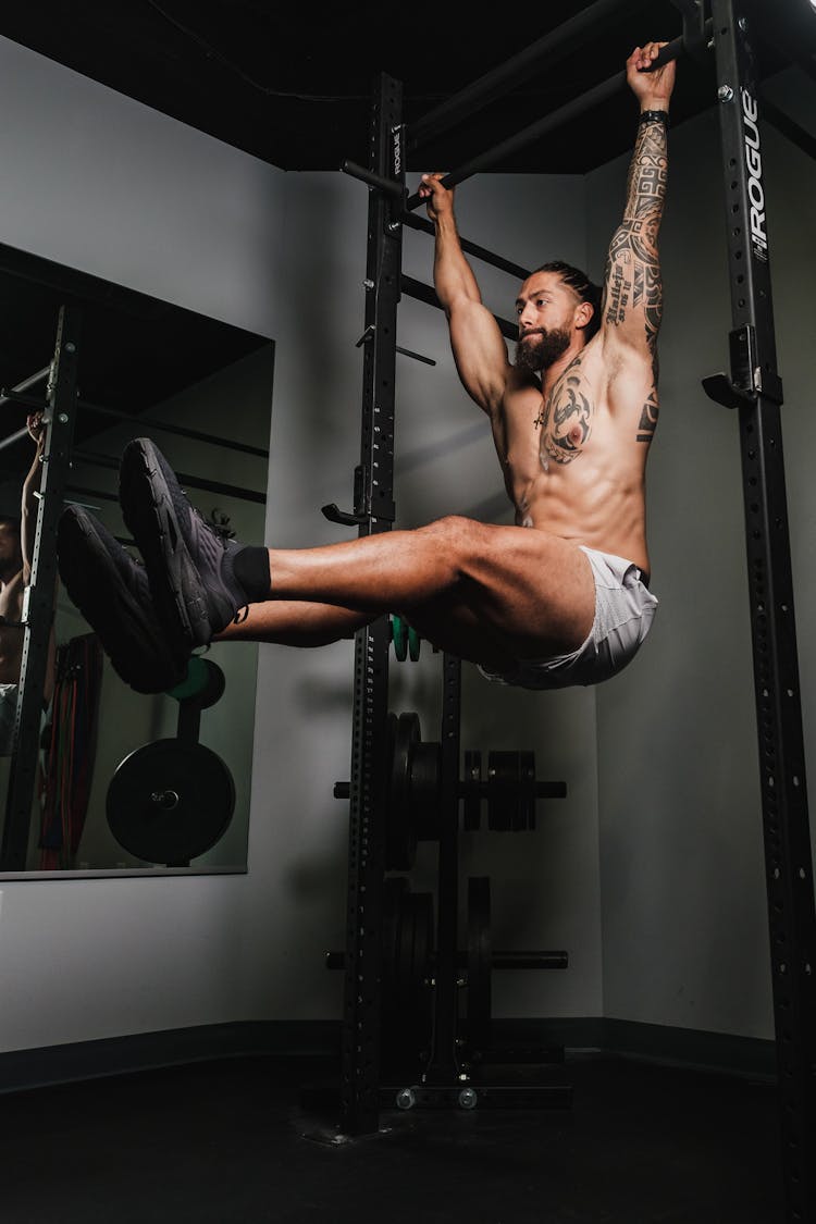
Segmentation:
{"type": "Polygon", "coordinates": [[[376,1133],[345,1140],[334,1118],[335,1071],[246,1058],[6,1094],[2,1222],[784,1218],[768,1082],[568,1058],[569,1109],[387,1110],[376,1133]],[[328,1095],[312,1091],[327,1087],[328,1095]]]}

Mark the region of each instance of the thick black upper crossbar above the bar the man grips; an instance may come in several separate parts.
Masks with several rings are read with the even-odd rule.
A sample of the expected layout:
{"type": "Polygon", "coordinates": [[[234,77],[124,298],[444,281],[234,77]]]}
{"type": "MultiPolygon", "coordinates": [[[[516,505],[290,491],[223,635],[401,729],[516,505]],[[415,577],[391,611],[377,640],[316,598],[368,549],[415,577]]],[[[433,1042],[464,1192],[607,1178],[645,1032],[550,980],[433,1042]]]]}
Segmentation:
{"type": "Polygon", "coordinates": [[[544,60],[548,61],[549,66],[555,61],[557,54],[569,54],[573,48],[585,40],[586,34],[601,33],[612,17],[620,16],[621,10],[635,7],[640,7],[640,5],[625,4],[624,0],[597,0],[597,4],[590,5],[575,17],[557,26],[543,38],[525,47],[513,59],[506,60],[491,72],[486,72],[484,76],[455,93],[453,98],[448,98],[447,102],[411,124],[407,136],[409,149],[415,149],[423,141],[439,136],[449,127],[454,127],[460,120],[470,119],[475,110],[486,106],[509,89],[515,89],[524,81],[527,81],[544,60]]]}

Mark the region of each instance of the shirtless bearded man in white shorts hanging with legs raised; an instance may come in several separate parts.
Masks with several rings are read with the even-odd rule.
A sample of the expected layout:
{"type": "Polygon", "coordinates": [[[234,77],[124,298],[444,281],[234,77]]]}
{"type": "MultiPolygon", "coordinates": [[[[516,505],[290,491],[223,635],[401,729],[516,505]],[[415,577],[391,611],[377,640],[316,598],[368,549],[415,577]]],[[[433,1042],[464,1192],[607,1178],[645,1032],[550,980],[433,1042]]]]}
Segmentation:
{"type": "Polygon", "coordinates": [[[515,366],[462,256],[453,195],[438,175],[423,177],[454,356],[491,417],[516,525],[451,515],[316,548],[243,547],[203,520],[157,447],[137,438],[122,455],[120,503],[144,565],[76,507],[57,539],[69,595],[127,683],[170,687],[214,639],[317,646],[388,612],[521,687],[595,684],[631,661],[657,605],[644,475],[657,421],[657,234],[674,65],[645,70],[663,45],[626,61],[641,115],[599,318],[588,288],[574,288],[588,286],[580,273],[533,273],[516,302],[515,366]]]}

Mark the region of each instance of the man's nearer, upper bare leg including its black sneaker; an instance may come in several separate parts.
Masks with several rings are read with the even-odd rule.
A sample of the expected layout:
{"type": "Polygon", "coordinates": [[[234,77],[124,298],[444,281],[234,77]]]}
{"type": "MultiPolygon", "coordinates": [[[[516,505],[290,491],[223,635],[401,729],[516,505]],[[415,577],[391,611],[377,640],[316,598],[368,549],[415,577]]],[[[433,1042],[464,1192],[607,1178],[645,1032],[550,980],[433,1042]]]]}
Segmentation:
{"type": "Polygon", "coordinates": [[[120,503],[157,611],[188,649],[241,619],[240,608],[267,602],[329,605],[372,618],[399,612],[437,644],[466,624],[476,660],[480,635],[491,656],[575,650],[595,617],[586,556],[536,529],[450,517],[316,548],[243,547],[219,540],[193,510],[149,438],[125,448],[120,503]]]}

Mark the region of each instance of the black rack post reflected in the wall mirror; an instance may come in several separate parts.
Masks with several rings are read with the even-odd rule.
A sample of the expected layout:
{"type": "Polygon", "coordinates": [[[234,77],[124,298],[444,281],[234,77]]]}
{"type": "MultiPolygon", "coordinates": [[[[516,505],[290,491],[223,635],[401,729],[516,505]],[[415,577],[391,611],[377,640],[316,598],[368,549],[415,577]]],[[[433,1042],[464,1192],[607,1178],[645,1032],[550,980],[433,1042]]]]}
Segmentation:
{"type": "Polygon", "coordinates": [[[77,308],[62,306],[57,321],[56,348],[46,390],[45,458],[39,487],[31,583],[23,605],[23,655],[20,668],[13,755],[6,797],[6,819],[0,849],[0,869],[4,871],[26,870],[28,854],[32,804],[39,760],[48,646],[54,623],[56,524],[62,513],[76,417],[78,337],[80,313],[77,308]]]}

